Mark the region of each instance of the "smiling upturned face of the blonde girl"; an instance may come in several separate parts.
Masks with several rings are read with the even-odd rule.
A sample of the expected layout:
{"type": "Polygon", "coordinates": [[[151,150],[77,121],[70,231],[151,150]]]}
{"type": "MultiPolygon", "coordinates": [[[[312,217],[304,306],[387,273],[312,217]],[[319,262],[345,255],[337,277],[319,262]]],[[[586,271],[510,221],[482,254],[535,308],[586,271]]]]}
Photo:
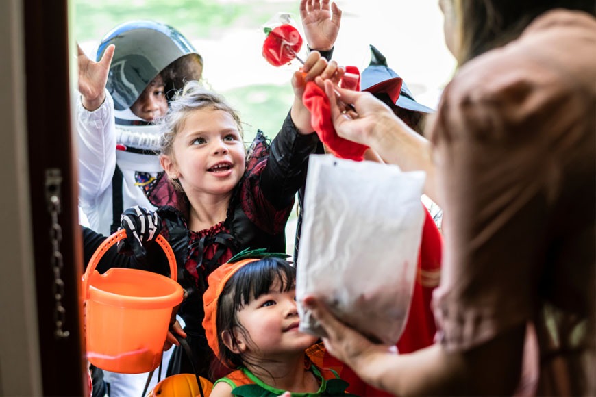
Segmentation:
{"type": "Polygon", "coordinates": [[[246,150],[231,114],[204,108],[188,115],[162,157],[169,177],[178,179],[187,196],[232,192],[246,168],[246,150]]]}

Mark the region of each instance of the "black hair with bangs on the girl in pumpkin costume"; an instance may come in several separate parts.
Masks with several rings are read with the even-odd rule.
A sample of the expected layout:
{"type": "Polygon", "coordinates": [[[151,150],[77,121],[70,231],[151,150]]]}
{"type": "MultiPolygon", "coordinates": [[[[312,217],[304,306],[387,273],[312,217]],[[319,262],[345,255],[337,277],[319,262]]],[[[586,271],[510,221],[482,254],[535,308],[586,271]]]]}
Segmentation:
{"type": "MultiPolygon", "coordinates": [[[[221,333],[229,331],[233,344],[236,344],[235,329],[240,330],[247,340],[250,340],[250,335],[247,335],[244,327],[238,322],[238,311],[252,300],[269,293],[275,283],[278,283],[280,292],[288,292],[296,285],[296,269],[290,262],[275,257],[250,262],[227,281],[217,301],[217,343],[219,344],[219,359],[222,362],[229,363],[236,368],[246,365],[245,357],[232,353],[225,346],[221,333]]],[[[256,365],[256,363],[251,364],[256,365]]]]}

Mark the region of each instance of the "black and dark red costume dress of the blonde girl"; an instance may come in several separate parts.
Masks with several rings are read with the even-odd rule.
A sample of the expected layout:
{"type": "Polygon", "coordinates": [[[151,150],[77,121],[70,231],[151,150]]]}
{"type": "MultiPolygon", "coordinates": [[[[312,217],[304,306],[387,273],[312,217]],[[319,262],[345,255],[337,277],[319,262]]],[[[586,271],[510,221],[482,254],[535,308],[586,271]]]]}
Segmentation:
{"type": "MultiPolygon", "coordinates": [[[[319,142],[316,134],[300,135],[290,115],[282,129],[268,144],[258,131],[247,154],[245,175],[236,186],[227,209],[227,218],[210,229],[188,230],[188,200],[175,191],[162,174],[147,188],[149,201],[156,205],[162,231],[171,245],[178,268],[178,282],[185,299],[178,314],[186,323],[184,331],[199,366],[199,374],[210,379],[212,353],[207,345],[203,321],[203,292],[208,275],[245,248],[266,248],[285,252],[285,227],[293,208],[295,194],[306,180],[308,155],[319,142]]],[[[84,228],[85,263],[105,236],[84,228]]],[[[97,270],[133,267],[169,275],[169,264],[158,244],[149,244],[147,257],[138,259],[116,253],[112,247],[103,255],[97,270]]],[[[171,374],[193,372],[182,350],[174,353],[171,374]],[[181,357],[182,356],[182,357],[181,357]]]]}

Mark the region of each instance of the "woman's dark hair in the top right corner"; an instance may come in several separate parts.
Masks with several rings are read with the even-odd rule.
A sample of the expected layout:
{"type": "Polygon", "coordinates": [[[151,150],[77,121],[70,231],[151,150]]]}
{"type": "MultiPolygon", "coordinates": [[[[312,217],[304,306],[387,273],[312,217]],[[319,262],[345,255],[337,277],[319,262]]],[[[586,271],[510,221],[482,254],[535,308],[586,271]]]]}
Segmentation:
{"type": "Polygon", "coordinates": [[[536,16],[567,8],[596,14],[594,0],[451,0],[458,23],[462,65],[517,38],[536,16]]]}

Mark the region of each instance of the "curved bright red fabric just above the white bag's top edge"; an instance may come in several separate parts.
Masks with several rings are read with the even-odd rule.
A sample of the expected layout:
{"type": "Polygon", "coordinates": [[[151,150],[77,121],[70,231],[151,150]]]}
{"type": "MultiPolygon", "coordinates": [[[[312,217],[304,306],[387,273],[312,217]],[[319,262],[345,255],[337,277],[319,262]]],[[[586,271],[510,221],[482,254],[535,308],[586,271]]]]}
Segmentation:
{"type": "Polygon", "coordinates": [[[314,82],[309,81],[304,89],[302,102],[310,110],[310,123],[327,149],[341,159],[361,162],[368,146],[351,142],[337,135],[331,120],[331,107],[327,95],[314,82]]]}

